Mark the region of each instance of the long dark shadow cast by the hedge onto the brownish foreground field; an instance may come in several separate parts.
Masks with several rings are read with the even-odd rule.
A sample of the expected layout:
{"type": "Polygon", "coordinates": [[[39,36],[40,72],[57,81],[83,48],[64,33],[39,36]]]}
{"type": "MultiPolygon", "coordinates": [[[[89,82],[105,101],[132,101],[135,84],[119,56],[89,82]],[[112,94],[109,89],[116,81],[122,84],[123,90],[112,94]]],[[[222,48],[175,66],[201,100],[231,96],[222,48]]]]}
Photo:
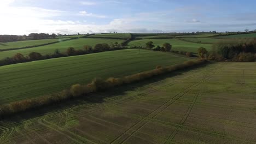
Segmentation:
{"type": "Polygon", "coordinates": [[[84,95],[82,97],[77,97],[77,98],[71,98],[71,99],[68,99],[68,100],[64,100],[64,101],[61,101],[60,103],[50,104],[50,105],[46,105],[46,106],[39,107],[39,108],[36,108],[36,109],[27,110],[25,112],[16,113],[15,115],[11,115],[11,116],[5,116],[5,117],[2,118],[1,121],[3,123],[4,123],[4,121],[5,122],[8,121],[8,122],[19,123],[19,122],[25,121],[27,119],[43,116],[46,113],[65,110],[65,109],[68,109],[70,107],[77,106],[77,105],[80,105],[80,104],[85,104],[85,103],[86,104],[100,104],[100,103],[103,103],[106,98],[114,97],[114,96],[117,96],[117,95],[125,95],[126,91],[133,91],[138,87],[143,87],[145,85],[148,85],[149,83],[158,82],[158,81],[164,80],[168,77],[183,75],[183,72],[186,72],[186,71],[189,71],[189,70],[202,69],[202,68],[205,68],[209,64],[212,64],[212,63],[211,62],[204,63],[204,64],[201,64],[201,65],[197,65],[196,67],[193,67],[193,68],[187,68],[187,69],[183,69],[183,70],[173,71],[171,73],[154,76],[154,77],[152,77],[150,79],[147,79],[147,80],[134,82],[134,83],[129,83],[129,84],[126,84],[126,85],[110,88],[106,91],[94,92],[94,93],[91,93],[91,94],[84,95]]]}

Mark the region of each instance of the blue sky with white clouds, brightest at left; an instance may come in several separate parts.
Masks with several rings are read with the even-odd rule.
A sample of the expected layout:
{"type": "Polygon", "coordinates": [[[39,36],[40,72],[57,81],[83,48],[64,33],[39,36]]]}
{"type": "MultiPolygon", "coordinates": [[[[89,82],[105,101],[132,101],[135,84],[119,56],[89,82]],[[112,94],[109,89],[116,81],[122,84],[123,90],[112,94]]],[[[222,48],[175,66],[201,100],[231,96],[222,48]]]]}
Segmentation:
{"type": "Polygon", "coordinates": [[[1,0],[0,34],[256,29],[254,0],[1,0]]]}

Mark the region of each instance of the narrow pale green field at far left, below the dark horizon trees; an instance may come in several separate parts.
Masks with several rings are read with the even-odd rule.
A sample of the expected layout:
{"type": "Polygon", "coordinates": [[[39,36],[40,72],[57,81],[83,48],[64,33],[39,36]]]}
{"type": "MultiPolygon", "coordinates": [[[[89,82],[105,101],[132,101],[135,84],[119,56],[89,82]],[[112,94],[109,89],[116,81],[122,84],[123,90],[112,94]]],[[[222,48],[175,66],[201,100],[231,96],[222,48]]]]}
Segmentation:
{"type": "Polygon", "coordinates": [[[20,48],[25,46],[42,45],[47,43],[52,43],[55,41],[61,41],[62,39],[42,39],[42,40],[25,40],[25,41],[15,41],[9,43],[0,43],[0,50],[20,48]]]}

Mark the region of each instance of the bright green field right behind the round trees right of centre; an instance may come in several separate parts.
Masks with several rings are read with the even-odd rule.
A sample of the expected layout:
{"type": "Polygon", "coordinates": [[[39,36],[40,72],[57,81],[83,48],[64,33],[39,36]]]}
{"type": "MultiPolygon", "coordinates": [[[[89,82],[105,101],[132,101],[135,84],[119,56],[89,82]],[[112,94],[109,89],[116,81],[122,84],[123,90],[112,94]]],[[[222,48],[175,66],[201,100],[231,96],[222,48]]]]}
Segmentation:
{"type": "Polygon", "coordinates": [[[176,51],[187,51],[187,52],[197,52],[199,47],[205,47],[207,50],[211,50],[211,44],[196,44],[190,43],[178,39],[143,39],[143,40],[133,40],[128,46],[145,46],[148,41],[153,41],[154,45],[161,46],[164,43],[170,43],[172,45],[172,50],[176,51]]]}

